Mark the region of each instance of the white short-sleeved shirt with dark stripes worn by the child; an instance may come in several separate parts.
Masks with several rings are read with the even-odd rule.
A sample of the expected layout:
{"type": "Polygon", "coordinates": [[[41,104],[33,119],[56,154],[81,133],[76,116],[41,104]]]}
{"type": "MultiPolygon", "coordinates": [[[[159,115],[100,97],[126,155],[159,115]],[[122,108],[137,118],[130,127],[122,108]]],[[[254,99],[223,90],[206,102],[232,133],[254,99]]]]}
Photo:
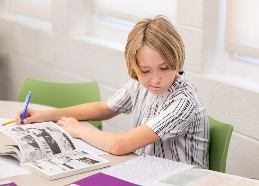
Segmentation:
{"type": "Polygon", "coordinates": [[[107,101],[110,109],[132,113],[130,130],[146,124],[161,140],[134,151],[209,168],[209,124],[202,100],[183,71],[163,94],[154,95],[133,79],[107,101]]]}

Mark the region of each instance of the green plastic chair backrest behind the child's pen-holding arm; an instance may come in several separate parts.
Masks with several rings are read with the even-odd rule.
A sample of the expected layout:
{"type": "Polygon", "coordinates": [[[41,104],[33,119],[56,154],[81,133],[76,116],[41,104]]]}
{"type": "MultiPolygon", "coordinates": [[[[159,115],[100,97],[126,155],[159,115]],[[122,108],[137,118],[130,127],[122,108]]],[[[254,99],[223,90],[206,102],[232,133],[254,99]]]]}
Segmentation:
{"type": "MultiPolygon", "coordinates": [[[[56,108],[100,101],[96,82],[57,83],[26,77],[19,90],[17,101],[25,101],[29,91],[32,92],[30,103],[56,108]]],[[[101,129],[101,121],[90,122],[101,129]]]]}

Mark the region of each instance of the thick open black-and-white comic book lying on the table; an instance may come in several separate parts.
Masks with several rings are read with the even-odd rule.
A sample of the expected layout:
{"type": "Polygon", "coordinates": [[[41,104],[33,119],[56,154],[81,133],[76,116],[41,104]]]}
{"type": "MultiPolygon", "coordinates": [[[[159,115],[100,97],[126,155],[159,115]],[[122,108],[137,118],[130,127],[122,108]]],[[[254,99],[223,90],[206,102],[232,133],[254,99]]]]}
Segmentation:
{"type": "Polygon", "coordinates": [[[5,129],[17,145],[1,145],[0,155],[12,155],[20,166],[49,180],[110,166],[110,161],[77,149],[73,138],[53,122],[5,129]]]}

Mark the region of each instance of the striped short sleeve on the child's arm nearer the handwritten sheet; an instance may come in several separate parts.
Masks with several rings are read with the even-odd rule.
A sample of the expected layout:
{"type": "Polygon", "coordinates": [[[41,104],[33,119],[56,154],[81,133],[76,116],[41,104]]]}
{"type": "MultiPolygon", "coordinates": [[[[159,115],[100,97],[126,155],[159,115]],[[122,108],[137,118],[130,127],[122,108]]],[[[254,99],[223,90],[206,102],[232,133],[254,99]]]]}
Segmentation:
{"type": "Polygon", "coordinates": [[[165,103],[160,112],[145,124],[163,141],[187,133],[194,118],[194,106],[187,98],[178,97],[165,103]]]}

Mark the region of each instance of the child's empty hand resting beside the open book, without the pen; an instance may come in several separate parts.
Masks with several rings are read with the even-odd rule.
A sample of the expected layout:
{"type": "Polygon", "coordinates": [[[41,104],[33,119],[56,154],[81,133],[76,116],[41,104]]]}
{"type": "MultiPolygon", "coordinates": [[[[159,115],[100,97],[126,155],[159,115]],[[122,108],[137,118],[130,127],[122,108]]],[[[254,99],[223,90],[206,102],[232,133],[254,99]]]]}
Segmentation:
{"type": "Polygon", "coordinates": [[[74,138],[80,138],[80,134],[86,128],[73,117],[62,117],[57,121],[57,125],[67,131],[74,138]]]}

